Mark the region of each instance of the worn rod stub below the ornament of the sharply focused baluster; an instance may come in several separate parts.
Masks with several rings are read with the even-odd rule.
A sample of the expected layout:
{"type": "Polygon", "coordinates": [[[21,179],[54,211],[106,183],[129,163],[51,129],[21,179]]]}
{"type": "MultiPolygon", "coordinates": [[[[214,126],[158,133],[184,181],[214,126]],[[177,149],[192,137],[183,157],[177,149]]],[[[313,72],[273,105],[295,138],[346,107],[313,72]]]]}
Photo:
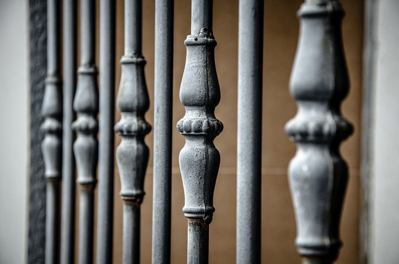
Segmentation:
{"type": "Polygon", "coordinates": [[[202,219],[188,219],[187,263],[208,264],[209,225],[202,219]]]}

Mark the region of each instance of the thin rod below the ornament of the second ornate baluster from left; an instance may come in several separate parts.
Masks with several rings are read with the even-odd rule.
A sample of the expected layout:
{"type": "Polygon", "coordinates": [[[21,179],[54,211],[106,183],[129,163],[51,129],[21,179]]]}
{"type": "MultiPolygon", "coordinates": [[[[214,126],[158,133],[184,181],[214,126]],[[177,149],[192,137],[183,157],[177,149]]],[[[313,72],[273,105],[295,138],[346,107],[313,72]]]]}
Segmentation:
{"type": "Polygon", "coordinates": [[[93,188],[81,188],[79,197],[79,264],[93,263],[93,209],[93,188]]]}

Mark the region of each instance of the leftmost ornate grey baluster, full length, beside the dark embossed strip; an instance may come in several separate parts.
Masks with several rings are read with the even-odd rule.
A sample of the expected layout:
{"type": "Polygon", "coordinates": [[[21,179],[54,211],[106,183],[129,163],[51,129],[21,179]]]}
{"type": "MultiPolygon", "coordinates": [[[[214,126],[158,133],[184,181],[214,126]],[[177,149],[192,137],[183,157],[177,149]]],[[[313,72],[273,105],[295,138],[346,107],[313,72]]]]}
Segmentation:
{"type": "Polygon", "coordinates": [[[59,2],[47,0],[47,78],[41,114],[44,139],[41,151],[45,165],[46,189],[46,238],[45,263],[58,262],[59,239],[59,182],[62,164],[62,95],[60,77],[60,27],[59,2]]]}

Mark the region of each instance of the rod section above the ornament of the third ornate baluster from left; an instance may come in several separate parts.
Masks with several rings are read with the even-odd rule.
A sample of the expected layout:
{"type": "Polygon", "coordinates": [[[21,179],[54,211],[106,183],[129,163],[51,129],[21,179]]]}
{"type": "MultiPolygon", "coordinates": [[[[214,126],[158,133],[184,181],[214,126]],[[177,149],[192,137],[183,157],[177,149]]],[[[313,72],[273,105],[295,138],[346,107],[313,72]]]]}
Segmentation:
{"type": "Polygon", "coordinates": [[[141,54],[142,41],[142,0],[125,0],[124,8],[124,54],[141,54]]]}

